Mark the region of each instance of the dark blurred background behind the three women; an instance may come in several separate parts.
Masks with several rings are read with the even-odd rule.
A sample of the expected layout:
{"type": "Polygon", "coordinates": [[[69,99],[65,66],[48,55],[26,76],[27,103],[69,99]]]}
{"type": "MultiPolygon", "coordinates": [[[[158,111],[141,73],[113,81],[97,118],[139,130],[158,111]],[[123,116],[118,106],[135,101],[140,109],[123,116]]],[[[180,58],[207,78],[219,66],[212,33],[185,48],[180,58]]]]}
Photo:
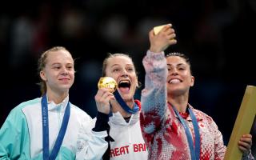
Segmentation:
{"type": "Polygon", "coordinates": [[[20,102],[40,96],[37,60],[52,46],[76,58],[70,102],[94,118],[106,54],[130,54],[143,84],[148,32],[166,23],[178,40],[166,53],[182,52],[192,63],[190,104],[214,118],[226,145],[246,86],[256,86],[255,0],[8,1],[0,13],[0,126],[20,102]]]}

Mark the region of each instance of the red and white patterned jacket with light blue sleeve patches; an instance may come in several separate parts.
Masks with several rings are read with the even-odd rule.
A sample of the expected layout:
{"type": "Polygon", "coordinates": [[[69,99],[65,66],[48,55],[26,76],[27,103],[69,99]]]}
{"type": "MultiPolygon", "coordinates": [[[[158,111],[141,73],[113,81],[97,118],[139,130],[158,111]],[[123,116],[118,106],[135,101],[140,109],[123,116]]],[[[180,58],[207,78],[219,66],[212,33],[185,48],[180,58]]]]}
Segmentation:
{"type": "MultiPolygon", "coordinates": [[[[172,106],[166,102],[167,66],[164,53],[147,52],[143,59],[146,70],[145,89],[142,90],[142,134],[149,150],[149,159],[187,160],[190,158],[185,130],[178,121],[172,106]]],[[[200,159],[223,159],[226,146],[214,120],[200,110],[194,112],[200,133],[200,159]]],[[[190,116],[186,118],[194,138],[194,127],[190,116]]],[[[254,159],[252,155],[244,159],[254,159]]]]}

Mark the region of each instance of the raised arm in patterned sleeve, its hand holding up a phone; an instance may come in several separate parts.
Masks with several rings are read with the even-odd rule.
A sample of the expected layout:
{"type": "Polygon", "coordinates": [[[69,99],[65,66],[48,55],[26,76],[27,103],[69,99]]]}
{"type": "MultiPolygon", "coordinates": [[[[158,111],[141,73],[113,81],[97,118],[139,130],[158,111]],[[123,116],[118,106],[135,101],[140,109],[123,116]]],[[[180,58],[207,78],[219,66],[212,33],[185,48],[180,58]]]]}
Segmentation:
{"type": "Polygon", "coordinates": [[[174,29],[166,25],[158,34],[150,30],[150,50],[143,58],[146,70],[145,88],[142,90],[142,134],[147,143],[160,128],[166,111],[166,58],[163,50],[175,44],[174,29]]]}

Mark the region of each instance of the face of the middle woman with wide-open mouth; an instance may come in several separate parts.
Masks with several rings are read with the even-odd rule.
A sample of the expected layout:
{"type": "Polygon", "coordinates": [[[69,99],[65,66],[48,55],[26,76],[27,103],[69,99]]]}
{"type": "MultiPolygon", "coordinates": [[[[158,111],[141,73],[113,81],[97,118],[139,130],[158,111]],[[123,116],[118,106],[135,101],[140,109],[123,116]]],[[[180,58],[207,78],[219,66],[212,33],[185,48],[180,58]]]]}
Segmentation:
{"type": "Polygon", "coordinates": [[[134,100],[138,77],[131,58],[122,54],[107,58],[103,72],[104,76],[114,78],[118,84],[117,90],[125,101],[134,100]]]}

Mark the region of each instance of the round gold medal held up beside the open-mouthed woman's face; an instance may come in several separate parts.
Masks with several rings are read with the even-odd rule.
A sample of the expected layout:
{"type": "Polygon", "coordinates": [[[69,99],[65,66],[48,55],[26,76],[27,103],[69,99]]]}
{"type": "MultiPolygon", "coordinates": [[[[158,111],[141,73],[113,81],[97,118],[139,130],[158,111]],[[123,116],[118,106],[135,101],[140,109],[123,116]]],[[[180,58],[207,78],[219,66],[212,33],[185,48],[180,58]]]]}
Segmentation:
{"type": "Polygon", "coordinates": [[[98,81],[98,89],[102,88],[109,89],[113,93],[117,89],[117,82],[115,82],[114,78],[102,77],[98,81]]]}

